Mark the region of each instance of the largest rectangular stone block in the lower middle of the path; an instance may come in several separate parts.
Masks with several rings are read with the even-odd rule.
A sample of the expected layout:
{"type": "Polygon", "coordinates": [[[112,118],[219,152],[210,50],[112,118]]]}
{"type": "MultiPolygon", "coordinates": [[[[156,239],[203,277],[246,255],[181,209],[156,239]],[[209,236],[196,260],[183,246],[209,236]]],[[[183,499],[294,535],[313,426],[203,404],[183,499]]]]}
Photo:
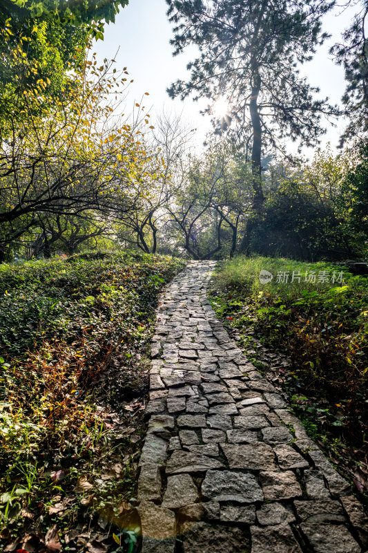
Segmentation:
{"type": "Polygon", "coordinates": [[[215,501],[253,503],[263,500],[262,489],[253,474],[233,471],[207,471],[202,494],[204,498],[215,501]]]}

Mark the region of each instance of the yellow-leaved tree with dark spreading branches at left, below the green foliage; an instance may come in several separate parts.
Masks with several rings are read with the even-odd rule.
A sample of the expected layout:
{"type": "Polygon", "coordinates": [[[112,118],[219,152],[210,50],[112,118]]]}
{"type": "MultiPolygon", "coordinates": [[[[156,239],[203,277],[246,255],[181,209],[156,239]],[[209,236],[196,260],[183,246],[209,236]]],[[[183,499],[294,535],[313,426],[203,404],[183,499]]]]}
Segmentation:
{"type": "Polygon", "coordinates": [[[143,178],[148,156],[142,131],[115,124],[119,103],[114,110],[111,95],[121,95],[126,77],[117,79],[110,68],[86,61],[84,73],[70,76],[72,86],[53,106],[42,105],[39,90],[23,94],[23,117],[10,118],[8,138],[0,142],[3,252],[39,227],[40,216],[133,209],[130,189],[143,178]]]}

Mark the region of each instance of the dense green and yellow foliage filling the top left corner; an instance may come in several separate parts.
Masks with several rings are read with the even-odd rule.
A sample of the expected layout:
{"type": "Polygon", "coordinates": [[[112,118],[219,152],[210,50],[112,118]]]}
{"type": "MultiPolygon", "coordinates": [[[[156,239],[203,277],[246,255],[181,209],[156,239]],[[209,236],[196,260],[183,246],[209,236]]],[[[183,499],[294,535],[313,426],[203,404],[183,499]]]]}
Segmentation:
{"type": "MultiPolygon", "coordinates": [[[[70,86],[70,71],[83,71],[92,37],[104,37],[128,0],[3,0],[0,12],[0,129],[22,117],[24,92],[41,89],[43,104],[60,100],[70,86]]],[[[28,98],[29,100],[29,98],[28,98]]],[[[35,103],[34,111],[39,109],[35,103]]],[[[28,109],[30,105],[28,103],[28,109]]]]}

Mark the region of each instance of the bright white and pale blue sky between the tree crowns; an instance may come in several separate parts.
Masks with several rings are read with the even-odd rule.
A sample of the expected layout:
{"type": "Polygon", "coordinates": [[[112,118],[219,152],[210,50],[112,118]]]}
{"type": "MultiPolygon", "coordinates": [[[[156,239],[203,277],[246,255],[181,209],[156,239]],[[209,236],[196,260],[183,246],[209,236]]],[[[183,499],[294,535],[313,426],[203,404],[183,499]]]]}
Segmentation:
{"type": "MultiPolygon", "coordinates": [[[[200,109],[206,106],[206,100],[193,102],[188,98],[182,102],[178,98],[171,100],[166,88],[176,79],[186,79],[189,73],[186,64],[195,56],[195,48],[186,50],[182,55],[173,57],[172,46],[169,44],[173,36],[171,24],[166,16],[164,0],[130,0],[128,6],[120,10],[115,24],[105,27],[104,41],[97,41],[93,50],[97,58],[115,59],[117,71],[127,68],[129,79],[134,79],[126,92],[127,113],[135,102],[140,102],[142,95],[144,104],[151,108],[151,118],[155,124],[155,115],[162,111],[181,115],[184,122],[197,129],[195,142],[197,149],[202,148],[206,133],[211,131],[209,115],[200,115],[200,109]]],[[[300,73],[308,77],[310,84],[320,88],[320,96],[329,96],[332,104],[339,103],[345,90],[344,73],[340,66],[333,63],[329,48],[340,41],[340,33],[349,25],[354,10],[342,11],[336,8],[329,12],[324,20],[323,30],[332,37],[327,40],[312,62],[300,67],[300,73]]],[[[339,129],[343,121],[338,122],[338,129],[328,122],[327,134],[322,139],[321,147],[327,142],[334,148],[338,144],[339,129]]],[[[295,152],[293,144],[288,144],[289,151],[295,152]]],[[[304,155],[313,156],[313,151],[304,149],[304,155]]]]}

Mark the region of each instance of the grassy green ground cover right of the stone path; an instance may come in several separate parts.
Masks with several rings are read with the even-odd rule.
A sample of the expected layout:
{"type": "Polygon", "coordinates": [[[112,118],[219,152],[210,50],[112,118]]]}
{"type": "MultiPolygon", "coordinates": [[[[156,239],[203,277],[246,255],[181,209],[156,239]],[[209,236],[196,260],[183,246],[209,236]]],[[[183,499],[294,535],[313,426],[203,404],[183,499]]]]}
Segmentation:
{"type": "Polygon", "coordinates": [[[238,256],[217,269],[210,294],[261,372],[259,344],[291,358],[277,376],[293,409],[356,489],[367,492],[367,277],[334,263],[238,256]],[[273,279],[261,283],[261,270],[273,279]]]}

